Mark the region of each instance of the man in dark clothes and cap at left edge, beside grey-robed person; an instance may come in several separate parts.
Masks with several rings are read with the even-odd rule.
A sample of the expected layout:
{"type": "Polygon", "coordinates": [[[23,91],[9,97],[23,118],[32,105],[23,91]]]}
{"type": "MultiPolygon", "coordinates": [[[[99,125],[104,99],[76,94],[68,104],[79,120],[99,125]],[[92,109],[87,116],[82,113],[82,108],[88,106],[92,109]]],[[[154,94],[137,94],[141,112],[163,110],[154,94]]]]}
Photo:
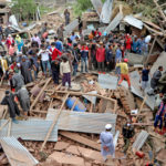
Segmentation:
{"type": "Polygon", "coordinates": [[[18,107],[18,104],[14,102],[14,95],[10,91],[6,91],[6,96],[3,97],[2,105],[8,105],[9,107],[9,114],[12,118],[12,122],[18,124],[18,121],[15,120],[15,115],[20,116],[20,111],[18,107]]]}

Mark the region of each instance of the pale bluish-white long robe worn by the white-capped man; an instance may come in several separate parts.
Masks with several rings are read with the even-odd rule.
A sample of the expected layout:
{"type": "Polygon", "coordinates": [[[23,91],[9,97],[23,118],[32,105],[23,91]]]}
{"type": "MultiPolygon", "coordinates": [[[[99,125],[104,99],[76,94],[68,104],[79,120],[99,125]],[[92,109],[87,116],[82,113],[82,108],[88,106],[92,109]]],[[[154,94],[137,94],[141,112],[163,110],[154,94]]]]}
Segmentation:
{"type": "Polygon", "coordinates": [[[111,132],[102,132],[100,139],[102,143],[102,149],[101,149],[102,156],[106,157],[107,155],[111,155],[114,157],[115,147],[113,143],[113,134],[111,132]],[[108,147],[108,151],[105,151],[104,146],[108,147]]]}

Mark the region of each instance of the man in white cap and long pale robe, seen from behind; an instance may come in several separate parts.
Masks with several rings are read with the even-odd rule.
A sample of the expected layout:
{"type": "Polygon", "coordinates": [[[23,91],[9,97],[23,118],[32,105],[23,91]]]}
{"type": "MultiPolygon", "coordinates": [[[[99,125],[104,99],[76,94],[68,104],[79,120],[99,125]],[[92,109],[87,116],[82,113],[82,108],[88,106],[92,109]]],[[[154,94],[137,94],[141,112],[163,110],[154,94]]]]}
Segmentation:
{"type": "Polygon", "coordinates": [[[107,124],[105,125],[105,132],[101,133],[100,139],[102,143],[102,156],[104,158],[104,162],[106,162],[106,156],[111,155],[114,157],[115,154],[115,147],[113,143],[113,134],[111,133],[112,125],[107,124]]]}

